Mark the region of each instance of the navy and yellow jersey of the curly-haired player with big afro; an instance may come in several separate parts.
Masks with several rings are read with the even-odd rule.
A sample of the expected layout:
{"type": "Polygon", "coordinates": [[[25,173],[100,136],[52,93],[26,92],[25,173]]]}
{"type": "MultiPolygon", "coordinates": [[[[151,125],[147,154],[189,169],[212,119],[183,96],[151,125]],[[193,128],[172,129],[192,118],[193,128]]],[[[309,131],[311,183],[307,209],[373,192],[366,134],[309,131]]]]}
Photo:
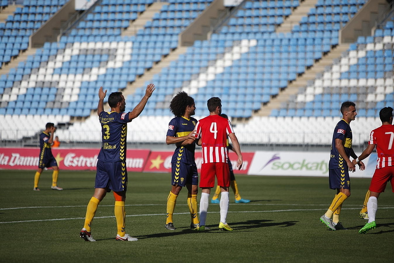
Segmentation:
{"type": "MultiPolygon", "coordinates": [[[[190,119],[186,119],[185,117],[175,117],[168,124],[167,136],[186,136],[194,130],[196,123],[197,120],[192,117],[190,119]]],[[[181,161],[182,163],[195,163],[195,148],[195,143],[177,147],[171,159],[171,163],[176,163],[177,161],[181,161]]]]}

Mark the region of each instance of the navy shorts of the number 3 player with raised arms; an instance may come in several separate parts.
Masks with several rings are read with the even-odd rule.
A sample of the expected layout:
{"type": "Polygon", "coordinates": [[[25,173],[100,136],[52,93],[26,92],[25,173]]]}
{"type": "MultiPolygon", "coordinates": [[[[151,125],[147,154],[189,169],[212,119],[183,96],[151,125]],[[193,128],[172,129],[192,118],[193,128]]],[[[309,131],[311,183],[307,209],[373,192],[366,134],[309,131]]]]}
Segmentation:
{"type": "Polygon", "coordinates": [[[114,192],[122,192],[127,189],[126,162],[103,162],[97,161],[95,188],[107,188],[114,192]]]}

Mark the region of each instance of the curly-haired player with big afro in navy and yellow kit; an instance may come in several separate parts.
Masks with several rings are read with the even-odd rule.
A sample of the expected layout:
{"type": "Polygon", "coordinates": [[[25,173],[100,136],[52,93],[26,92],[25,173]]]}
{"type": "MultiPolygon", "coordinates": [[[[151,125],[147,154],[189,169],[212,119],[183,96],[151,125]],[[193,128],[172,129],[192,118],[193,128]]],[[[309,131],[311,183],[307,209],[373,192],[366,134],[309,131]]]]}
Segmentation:
{"type": "Polygon", "coordinates": [[[176,144],[177,148],[171,159],[172,187],[167,198],[167,219],[164,226],[168,230],[175,230],[173,224],[175,204],[177,203],[180,190],[186,186],[188,189],[187,203],[191,216],[190,228],[195,229],[199,226],[197,217],[198,173],[194,161],[195,137],[192,131],[197,120],[191,116],[195,114],[196,107],[193,98],[188,96],[186,92],[180,91],[171,100],[170,109],[175,118],[168,124],[165,142],[167,144],[176,144]],[[182,142],[186,139],[192,139],[193,143],[182,145],[182,142]]]}

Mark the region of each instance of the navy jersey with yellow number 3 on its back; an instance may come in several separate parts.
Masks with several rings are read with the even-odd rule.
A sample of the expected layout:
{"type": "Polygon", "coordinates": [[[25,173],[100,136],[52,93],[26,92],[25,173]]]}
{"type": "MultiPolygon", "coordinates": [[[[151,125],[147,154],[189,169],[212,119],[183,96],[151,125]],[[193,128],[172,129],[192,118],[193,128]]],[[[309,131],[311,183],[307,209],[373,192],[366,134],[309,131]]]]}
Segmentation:
{"type": "Polygon", "coordinates": [[[104,162],[126,160],[128,112],[102,111],[99,115],[102,145],[97,159],[104,162]]]}

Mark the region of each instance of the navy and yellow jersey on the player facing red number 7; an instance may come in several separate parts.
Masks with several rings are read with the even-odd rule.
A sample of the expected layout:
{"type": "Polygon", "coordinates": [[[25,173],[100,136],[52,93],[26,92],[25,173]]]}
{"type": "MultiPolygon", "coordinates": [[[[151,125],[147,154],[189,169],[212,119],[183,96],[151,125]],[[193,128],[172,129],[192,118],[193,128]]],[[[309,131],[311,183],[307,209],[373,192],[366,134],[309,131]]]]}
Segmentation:
{"type": "Polygon", "coordinates": [[[352,138],[353,135],[351,133],[350,125],[344,119],[340,120],[334,129],[333,141],[331,143],[330,162],[328,165],[329,169],[336,169],[342,166],[348,167],[346,161],[344,161],[338,150],[336,150],[335,139],[340,139],[342,141],[346,155],[350,157],[352,138]]]}

